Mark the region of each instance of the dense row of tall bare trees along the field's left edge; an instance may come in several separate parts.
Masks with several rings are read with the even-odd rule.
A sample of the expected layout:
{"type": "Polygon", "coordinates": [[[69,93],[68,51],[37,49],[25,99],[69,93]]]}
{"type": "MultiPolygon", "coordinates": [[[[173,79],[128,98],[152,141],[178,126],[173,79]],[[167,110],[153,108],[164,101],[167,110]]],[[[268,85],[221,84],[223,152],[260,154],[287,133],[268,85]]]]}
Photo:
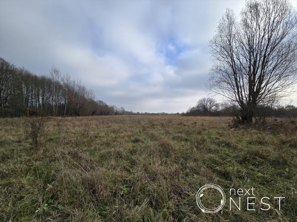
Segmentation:
{"type": "MultiPolygon", "coordinates": [[[[124,108],[122,107],[122,111],[124,108]]],[[[96,101],[94,91],[71,80],[53,66],[48,76],[34,75],[0,58],[0,116],[108,115],[122,113],[115,106],[96,101]]]]}

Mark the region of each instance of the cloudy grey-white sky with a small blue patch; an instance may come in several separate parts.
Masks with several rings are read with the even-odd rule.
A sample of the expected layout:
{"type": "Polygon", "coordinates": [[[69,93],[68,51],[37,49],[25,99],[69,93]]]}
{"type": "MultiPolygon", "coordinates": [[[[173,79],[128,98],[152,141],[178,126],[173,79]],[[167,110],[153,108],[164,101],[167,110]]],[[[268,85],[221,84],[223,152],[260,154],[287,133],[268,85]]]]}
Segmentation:
{"type": "Polygon", "coordinates": [[[59,67],[125,110],[183,112],[207,96],[207,44],[222,14],[244,4],[1,0],[0,56],[37,75],[59,67]]]}

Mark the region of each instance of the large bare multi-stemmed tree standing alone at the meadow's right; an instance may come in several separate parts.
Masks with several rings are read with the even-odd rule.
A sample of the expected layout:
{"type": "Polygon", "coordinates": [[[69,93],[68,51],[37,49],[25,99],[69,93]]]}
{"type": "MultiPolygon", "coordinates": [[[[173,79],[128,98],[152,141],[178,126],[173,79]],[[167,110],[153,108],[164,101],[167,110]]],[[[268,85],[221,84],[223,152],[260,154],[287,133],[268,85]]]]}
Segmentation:
{"type": "Polygon", "coordinates": [[[296,88],[297,16],[289,1],[246,1],[237,21],[227,9],[209,41],[208,89],[241,107],[251,123],[258,107],[296,88]]]}

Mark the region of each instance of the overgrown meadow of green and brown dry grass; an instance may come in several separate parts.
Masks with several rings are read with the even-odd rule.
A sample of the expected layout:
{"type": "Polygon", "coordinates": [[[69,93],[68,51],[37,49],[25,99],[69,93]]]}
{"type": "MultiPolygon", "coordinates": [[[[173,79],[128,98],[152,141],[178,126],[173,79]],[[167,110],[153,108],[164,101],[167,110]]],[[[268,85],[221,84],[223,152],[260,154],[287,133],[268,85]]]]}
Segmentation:
{"type": "MultiPolygon", "coordinates": [[[[296,221],[296,124],[259,130],[231,129],[222,117],[51,117],[36,146],[27,121],[0,119],[0,221],[296,221]],[[196,204],[205,184],[226,193],[218,213],[196,204]],[[229,189],[252,187],[255,210],[244,196],[241,210],[230,210],[229,189]],[[270,198],[267,211],[262,197],[270,198]],[[281,210],[273,197],[285,197],[281,210]]],[[[217,205],[216,192],[206,194],[203,204],[217,205]]]]}

